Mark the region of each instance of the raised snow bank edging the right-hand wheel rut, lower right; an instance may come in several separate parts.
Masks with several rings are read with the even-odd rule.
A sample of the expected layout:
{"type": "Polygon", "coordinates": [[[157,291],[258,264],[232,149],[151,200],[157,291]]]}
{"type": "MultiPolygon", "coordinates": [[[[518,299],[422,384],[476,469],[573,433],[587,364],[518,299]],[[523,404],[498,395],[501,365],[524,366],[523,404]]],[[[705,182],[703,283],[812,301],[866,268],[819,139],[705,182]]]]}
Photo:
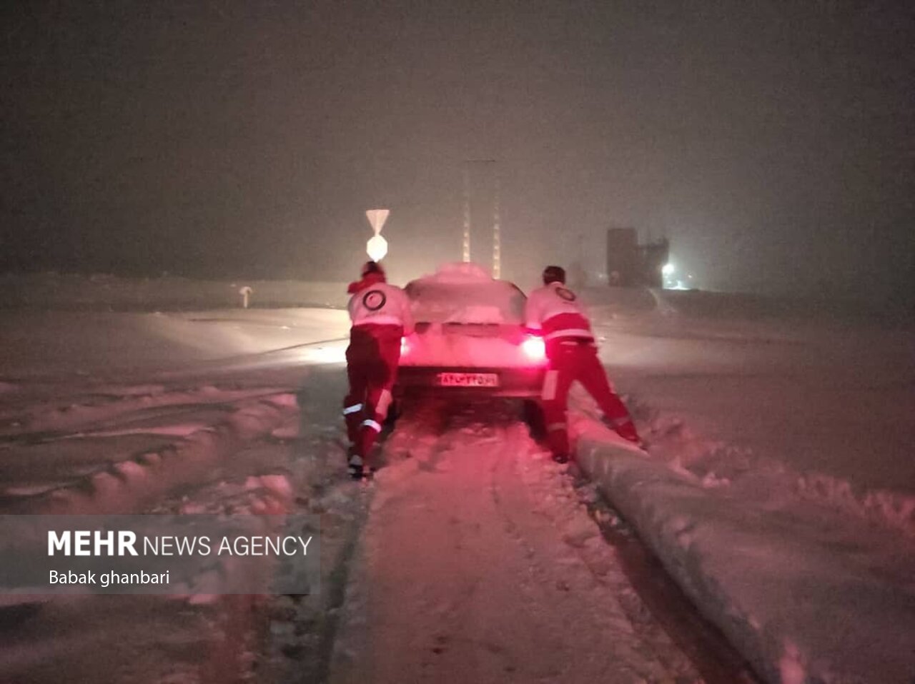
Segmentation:
{"type": "Polygon", "coordinates": [[[703,486],[596,422],[573,424],[579,464],[764,679],[910,682],[915,559],[904,545],[868,547],[819,509],[703,486]]]}

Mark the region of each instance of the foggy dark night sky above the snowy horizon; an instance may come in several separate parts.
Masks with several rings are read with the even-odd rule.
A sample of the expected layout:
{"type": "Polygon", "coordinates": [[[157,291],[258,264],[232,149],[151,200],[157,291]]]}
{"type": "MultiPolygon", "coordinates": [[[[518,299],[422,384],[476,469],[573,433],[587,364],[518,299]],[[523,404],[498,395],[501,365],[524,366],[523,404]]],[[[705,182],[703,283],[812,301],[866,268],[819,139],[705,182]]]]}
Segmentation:
{"type": "Polygon", "coordinates": [[[912,6],[8,3],[0,271],[346,280],[382,206],[414,275],[494,158],[522,283],[612,224],[709,287],[911,296],[912,6]]]}

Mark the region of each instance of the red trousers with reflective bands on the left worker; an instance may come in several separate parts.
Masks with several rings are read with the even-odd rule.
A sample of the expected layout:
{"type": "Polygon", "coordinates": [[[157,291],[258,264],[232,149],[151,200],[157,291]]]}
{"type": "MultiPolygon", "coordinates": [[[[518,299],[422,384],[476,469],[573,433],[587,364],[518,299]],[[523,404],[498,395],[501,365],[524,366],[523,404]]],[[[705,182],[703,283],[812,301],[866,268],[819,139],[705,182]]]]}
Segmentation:
{"type": "Polygon", "coordinates": [[[346,350],[350,392],[343,400],[343,417],[350,444],[363,460],[382,432],[391,405],[403,335],[401,326],[350,329],[350,346],[346,350]]]}

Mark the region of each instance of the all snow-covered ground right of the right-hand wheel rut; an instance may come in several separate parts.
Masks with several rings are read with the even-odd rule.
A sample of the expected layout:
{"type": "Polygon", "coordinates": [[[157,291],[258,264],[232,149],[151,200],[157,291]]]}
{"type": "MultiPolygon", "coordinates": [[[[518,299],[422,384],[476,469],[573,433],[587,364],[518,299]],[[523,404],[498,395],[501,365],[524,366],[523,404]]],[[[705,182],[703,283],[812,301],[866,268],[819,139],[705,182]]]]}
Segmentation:
{"type": "Polygon", "coordinates": [[[580,421],[583,465],[767,679],[910,681],[912,326],[656,296],[600,328],[651,458],[580,421]]]}

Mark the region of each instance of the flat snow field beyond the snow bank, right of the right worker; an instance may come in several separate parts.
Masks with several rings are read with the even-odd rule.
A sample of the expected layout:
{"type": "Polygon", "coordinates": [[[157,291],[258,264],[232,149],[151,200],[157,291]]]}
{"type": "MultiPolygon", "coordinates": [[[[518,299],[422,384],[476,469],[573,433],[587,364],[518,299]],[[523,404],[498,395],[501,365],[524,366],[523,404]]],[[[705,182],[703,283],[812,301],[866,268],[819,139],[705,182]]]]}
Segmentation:
{"type": "Polygon", "coordinates": [[[653,312],[605,308],[598,326],[611,376],[644,405],[652,455],[708,481],[779,471],[792,496],[912,532],[911,318],[656,295],[653,312]]]}

